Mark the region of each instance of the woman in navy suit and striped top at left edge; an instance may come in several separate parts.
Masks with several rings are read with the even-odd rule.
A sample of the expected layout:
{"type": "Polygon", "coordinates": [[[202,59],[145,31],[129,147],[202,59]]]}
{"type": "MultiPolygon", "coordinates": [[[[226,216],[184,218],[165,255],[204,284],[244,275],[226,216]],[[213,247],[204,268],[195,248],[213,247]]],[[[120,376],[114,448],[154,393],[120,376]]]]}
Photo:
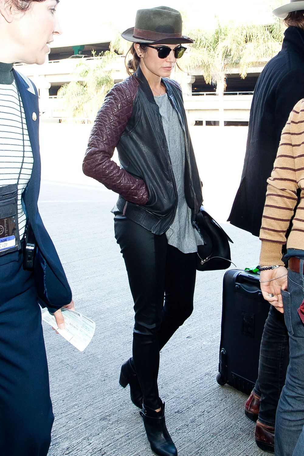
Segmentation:
{"type": "Polygon", "coordinates": [[[72,293],[41,221],[37,90],[13,69],[38,63],[61,33],[57,0],[0,0],[0,454],[45,456],[54,420],[38,302],[64,327],[72,293]],[[26,232],[36,238],[24,269],[26,232]],[[27,265],[29,267],[29,264],[27,265]]]}

